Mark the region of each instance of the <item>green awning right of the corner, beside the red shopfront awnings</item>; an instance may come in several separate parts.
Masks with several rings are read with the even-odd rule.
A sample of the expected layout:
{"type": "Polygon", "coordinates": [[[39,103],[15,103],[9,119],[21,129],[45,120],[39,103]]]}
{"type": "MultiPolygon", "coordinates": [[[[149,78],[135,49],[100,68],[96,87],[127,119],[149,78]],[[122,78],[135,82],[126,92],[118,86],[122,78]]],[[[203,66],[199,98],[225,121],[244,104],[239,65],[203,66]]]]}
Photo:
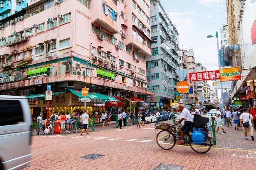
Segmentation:
{"type": "Polygon", "coordinates": [[[97,92],[94,91],[89,91],[89,94],[84,97],[81,94],[81,90],[79,89],[73,89],[73,88],[67,88],[71,93],[75,94],[76,96],[80,97],[80,98],[87,98],[87,99],[91,99],[92,102],[108,102],[109,101],[109,96],[105,96],[102,94],[99,94],[97,92]]]}

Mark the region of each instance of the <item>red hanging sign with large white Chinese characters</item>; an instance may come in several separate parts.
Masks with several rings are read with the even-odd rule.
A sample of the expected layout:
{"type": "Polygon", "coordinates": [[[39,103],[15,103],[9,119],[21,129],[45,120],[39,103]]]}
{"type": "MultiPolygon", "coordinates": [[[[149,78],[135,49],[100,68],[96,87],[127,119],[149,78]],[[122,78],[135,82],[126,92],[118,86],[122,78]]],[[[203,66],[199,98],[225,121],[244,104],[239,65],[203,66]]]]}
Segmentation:
{"type": "Polygon", "coordinates": [[[220,72],[218,70],[215,70],[189,73],[189,79],[190,82],[220,79],[220,72]]]}

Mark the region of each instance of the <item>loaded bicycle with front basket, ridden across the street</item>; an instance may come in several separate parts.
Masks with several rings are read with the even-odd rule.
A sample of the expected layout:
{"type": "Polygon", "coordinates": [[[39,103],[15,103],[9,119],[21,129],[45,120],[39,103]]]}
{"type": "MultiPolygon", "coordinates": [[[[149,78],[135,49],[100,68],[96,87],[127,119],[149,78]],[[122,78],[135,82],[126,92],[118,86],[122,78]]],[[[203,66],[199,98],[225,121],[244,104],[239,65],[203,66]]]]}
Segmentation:
{"type": "MultiPolygon", "coordinates": [[[[175,126],[174,124],[158,124],[155,126],[156,129],[161,129],[159,133],[157,133],[157,144],[164,150],[172,149],[176,140],[181,140],[180,137],[180,128],[181,126],[175,126]]],[[[207,135],[207,131],[205,128],[193,128],[195,130],[201,130],[201,133],[204,135],[204,141],[201,143],[197,143],[192,140],[192,130],[189,131],[189,139],[186,144],[194,150],[196,153],[207,153],[212,147],[212,141],[207,135]]]]}

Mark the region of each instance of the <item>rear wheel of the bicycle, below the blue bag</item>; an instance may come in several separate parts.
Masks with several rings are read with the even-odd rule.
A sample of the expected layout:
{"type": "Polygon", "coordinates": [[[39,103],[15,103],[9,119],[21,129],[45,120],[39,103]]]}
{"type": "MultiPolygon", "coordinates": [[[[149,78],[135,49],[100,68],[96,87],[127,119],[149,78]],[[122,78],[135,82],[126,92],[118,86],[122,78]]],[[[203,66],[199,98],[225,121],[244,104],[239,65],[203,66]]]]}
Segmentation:
{"type": "Polygon", "coordinates": [[[207,153],[212,147],[212,141],[207,134],[204,134],[203,144],[194,144],[192,142],[192,136],[189,137],[189,145],[196,153],[207,153]]]}

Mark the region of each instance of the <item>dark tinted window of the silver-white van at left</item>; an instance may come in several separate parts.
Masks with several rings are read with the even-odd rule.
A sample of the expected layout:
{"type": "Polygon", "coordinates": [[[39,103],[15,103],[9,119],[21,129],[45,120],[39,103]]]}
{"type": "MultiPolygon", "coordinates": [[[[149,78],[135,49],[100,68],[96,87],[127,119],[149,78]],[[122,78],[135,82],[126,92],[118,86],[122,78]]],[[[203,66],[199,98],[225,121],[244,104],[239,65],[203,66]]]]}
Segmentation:
{"type": "Polygon", "coordinates": [[[0,100],[0,126],[24,122],[22,107],[18,100],[0,100]]]}

